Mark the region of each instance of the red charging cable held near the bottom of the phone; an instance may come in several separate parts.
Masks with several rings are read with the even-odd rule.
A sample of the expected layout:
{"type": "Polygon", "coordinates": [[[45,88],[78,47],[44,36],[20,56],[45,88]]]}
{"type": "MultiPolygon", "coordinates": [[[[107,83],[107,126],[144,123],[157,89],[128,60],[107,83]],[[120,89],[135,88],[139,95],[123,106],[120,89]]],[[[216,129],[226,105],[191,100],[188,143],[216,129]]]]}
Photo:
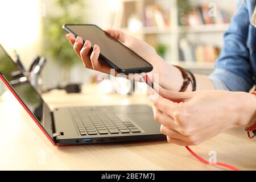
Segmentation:
{"type": "MultiPolygon", "coordinates": [[[[150,86],[151,88],[154,89],[154,84],[153,82],[150,80],[150,78],[148,78],[147,75],[144,75],[144,73],[142,74],[143,76],[143,80],[146,82],[146,84],[148,86],[150,86]]],[[[185,146],[187,148],[187,150],[193,155],[195,156],[196,159],[200,160],[201,162],[205,163],[205,164],[210,164],[207,160],[203,159],[203,158],[200,158],[200,156],[196,155],[195,152],[193,152],[188,146],[185,146]]],[[[231,166],[229,164],[225,164],[225,163],[220,163],[220,162],[217,162],[216,164],[214,164],[216,166],[222,166],[222,167],[226,167],[226,168],[229,168],[231,169],[232,171],[240,171],[240,169],[234,167],[234,166],[231,166]]]]}

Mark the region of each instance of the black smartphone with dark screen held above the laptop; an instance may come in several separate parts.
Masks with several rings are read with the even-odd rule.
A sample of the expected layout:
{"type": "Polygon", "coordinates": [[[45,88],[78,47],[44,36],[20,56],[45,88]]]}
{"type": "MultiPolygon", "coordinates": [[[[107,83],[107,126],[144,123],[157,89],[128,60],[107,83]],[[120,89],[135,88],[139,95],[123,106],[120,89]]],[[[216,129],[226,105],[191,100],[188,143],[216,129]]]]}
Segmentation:
{"type": "MultiPolygon", "coordinates": [[[[94,24],[64,24],[63,29],[68,33],[80,36],[84,42],[90,40],[92,46],[100,46],[99,60],[105,61],[118,73],[143,73],[152,71],[150,63],[137,55],[128,47],[94,24]]],[[[92,51],[93,47],[91,48],[92,51]]]]}

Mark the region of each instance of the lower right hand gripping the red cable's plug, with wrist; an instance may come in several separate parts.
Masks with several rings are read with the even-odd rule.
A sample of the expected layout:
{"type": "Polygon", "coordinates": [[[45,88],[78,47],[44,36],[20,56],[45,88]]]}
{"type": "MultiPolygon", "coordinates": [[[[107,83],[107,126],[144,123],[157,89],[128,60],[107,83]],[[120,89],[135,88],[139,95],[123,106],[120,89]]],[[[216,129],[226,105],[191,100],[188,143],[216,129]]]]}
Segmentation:
{"type": "Polygon", "coordinates": [[[197,145],[232,127],[250,127],[256,118],[256,97],[245,92],[171,92],[159,87],[152,100],[155,120],[169,143],[197,145]]]}

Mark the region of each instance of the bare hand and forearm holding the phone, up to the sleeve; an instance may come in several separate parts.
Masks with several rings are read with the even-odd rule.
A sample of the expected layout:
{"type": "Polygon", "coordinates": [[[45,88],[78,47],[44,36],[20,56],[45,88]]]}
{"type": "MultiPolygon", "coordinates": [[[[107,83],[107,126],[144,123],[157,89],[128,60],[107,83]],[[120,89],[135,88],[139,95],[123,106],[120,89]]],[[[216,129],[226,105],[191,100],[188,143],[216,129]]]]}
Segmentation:
{"type": "MultiPolygon", "coordinates": [[[[117,39],[119,42],[123,43],[125,46],[137,52],[141,57],[151,63],[154,67],[153,71],[148,73],[148,76],[152,81],[163,86],[163,88],[169,90],[179,91],[183,83],[183,77],[179,69],[173,67],[172,65],[166,63],[160,56],[155,52],[147,43],[133,38],[129,35],[124,34],[118,30],[107,30],[107,32],[117,39]],[[159,82],[154,80],[156,75],[159,78],[159,82]]],[[[89,69],[94,69],[96,71],[110,73],[110,68],[98,61],[98,56],[100,55],[100,47],[97,45],[92,45],[89,40],[86,40],[85,44],[82,44],[82,39],[80,37],[75,38],[72,34],[67,34],[67,39],[72,44],[77,56],[83,61],[84,66],[89,69]],[[90,47],[93,46],[92,54],[89,53],[90,47]]],[[[137,78],[134,78],[138,80],[137,78]]],[[[209,78],[205,76],[196,75],[197,89],[214,89],[212,82],[209,78]]],[[[192,86],[189,85],[187,91],[191,91],[192,86]]]]}

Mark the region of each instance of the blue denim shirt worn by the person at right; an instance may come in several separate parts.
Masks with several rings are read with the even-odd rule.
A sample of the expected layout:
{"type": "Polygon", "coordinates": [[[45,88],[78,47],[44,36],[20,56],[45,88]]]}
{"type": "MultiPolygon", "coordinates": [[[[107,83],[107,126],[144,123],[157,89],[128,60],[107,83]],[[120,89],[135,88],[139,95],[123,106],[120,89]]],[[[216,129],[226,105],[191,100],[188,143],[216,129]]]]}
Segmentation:
{"type": "Polygon", "coordinates": [[[236,15],[224,35],[224,47],[209,78],[216,89],[249,90],[256,77],[256,28],[251,24],[255,0],[238,3],[236,15]]]}

